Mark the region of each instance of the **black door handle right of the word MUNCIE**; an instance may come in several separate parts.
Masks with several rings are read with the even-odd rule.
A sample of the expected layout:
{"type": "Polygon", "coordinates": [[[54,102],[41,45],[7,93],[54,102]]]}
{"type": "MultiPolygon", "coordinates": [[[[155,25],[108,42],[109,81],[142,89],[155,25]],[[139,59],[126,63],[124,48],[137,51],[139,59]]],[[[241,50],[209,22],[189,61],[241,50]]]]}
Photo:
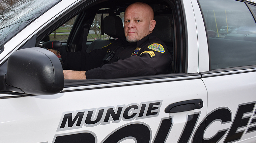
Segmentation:
{"type": "Polygon", "coordinates": [[[181,102],[170,104],[165,108],[164,112],[177,113],[177,112],[190,111],[190,110],[200,109],[200,108],[203,108],[203,100],[194,99],[194,100],[187,100],[187,101],[181,101],[181,102]]]}

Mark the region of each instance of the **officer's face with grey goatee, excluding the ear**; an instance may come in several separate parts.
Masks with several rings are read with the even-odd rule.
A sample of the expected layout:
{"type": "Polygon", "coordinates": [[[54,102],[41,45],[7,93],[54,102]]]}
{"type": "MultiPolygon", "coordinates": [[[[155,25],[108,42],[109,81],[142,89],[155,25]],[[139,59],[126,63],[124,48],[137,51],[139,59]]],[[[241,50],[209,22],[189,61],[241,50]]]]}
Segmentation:
{"type": "Polygon", "coordinates": [[[148,10],[140,7],[130,7],[125,12],[124,27],[128,42],[139,41],[151,33],[148,10]]]}

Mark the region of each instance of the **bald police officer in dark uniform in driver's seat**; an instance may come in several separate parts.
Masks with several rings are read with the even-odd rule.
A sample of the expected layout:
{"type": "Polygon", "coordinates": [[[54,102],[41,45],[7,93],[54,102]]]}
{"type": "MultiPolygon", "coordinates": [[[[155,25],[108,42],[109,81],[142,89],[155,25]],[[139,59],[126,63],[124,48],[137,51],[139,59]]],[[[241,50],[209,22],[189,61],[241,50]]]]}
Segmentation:
{"type": "Polygon", "coordinates": [[[172,55],[153,35],[153,9],[145,3],[129,5],[124,15],[126,39],[86,52],[61,53],[65,79],[109,79],[167,73],[172,55]]]}

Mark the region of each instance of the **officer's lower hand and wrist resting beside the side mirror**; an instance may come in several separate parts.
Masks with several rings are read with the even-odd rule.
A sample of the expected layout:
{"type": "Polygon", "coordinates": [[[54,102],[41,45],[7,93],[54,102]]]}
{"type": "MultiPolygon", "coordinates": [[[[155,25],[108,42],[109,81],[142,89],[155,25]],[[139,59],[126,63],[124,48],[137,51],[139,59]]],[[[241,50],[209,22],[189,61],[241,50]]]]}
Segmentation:
{"type": "Polygon", "coordinates": [[[86,80],[86,71],[63,70],[65,80],[86,80]]]}

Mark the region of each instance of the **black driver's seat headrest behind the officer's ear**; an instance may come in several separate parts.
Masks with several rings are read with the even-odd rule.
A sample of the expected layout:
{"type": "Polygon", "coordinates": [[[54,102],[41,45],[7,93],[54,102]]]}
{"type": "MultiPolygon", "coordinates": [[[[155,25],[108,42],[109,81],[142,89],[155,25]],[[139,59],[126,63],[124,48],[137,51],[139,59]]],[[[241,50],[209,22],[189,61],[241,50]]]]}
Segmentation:
{"type": "Polygon", "coordinates": [[[172,14],[161,14],[154,17],[156,26],[153,33],[163,42],[172,42],[173,39],[173,23],[172,14]]]}

